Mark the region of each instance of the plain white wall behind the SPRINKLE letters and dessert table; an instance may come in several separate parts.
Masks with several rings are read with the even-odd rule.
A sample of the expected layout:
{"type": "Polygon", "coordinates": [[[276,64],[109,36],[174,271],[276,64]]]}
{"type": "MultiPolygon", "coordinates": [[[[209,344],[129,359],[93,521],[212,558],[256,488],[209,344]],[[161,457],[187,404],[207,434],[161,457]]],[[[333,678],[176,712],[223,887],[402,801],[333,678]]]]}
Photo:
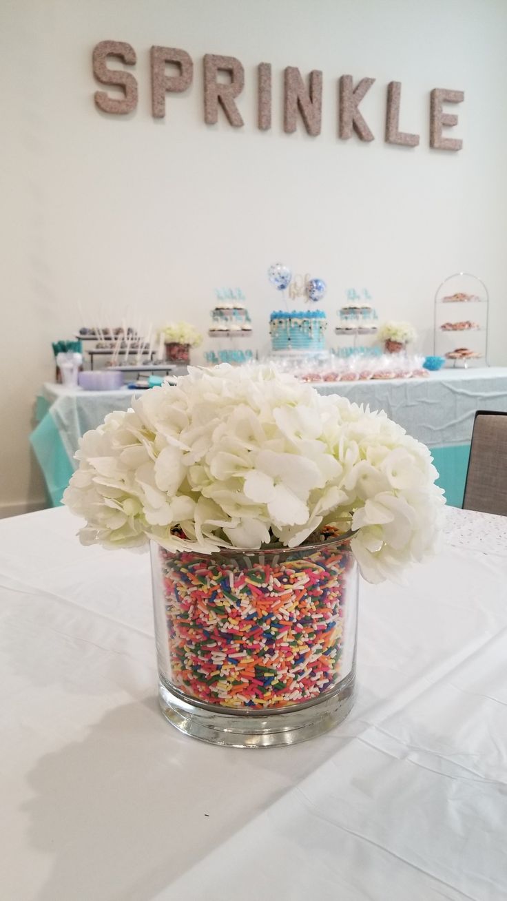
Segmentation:
{"type": "Polygon", "coordinates": [[[490,288],[491,360],[507,363],[506,26],[503,0],[3,0],[0,503],[41,502],[33,399],[52,376],[50,341],[79,324],[78,302],[205,328],[214,288],[240,286],[261,348],[278,300],[266,269],[281,259],[327,280],[333,318],[347,287],[366,286],[381,315],[424,336],[439,280],[465,268],[490,288]],[[105,39],[138,54],[128,117],[95,110],[91,52],[105,39]],[[157,122],[152,44],[195,61],[192,88],[157,122]],[[245,67],[241,130],[204,125],[205,52],[245,67]],[[261,61],[273,66],[270,132],[256,129],[261,61]],[[287,65],[323,70],[318,138],[282,131],[287,65]],[[344,73],[376,77],[362,105],[371,144],[337,137],[344,73]],[[417,149],[383,140],[390,80],[403,82],[401,127],[421,134],[417,149]],[[457,154],[429,149],[432,87],[466,92],[457,154]]]}

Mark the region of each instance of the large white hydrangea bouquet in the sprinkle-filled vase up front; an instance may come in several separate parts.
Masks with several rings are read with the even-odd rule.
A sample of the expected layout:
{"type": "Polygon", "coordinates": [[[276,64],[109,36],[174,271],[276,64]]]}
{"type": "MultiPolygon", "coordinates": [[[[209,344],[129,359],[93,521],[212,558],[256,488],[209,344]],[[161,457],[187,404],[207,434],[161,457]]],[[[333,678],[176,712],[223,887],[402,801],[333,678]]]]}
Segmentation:
{"type": "Polygon", "coordinates": [[[167,551],[295,548],[352,530],[367,580],[435,550],[430,451],[383,413],[271,367],[189,369],[86,432],[64,503],[84,544],[167,551]]]}

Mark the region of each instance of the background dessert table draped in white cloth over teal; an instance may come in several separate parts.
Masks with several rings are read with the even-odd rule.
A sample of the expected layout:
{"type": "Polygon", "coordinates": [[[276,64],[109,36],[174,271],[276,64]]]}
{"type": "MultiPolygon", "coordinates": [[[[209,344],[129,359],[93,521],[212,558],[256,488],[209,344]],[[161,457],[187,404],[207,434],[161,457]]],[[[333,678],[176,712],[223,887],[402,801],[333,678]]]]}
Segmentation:
{"type": "MultiPolygon", "coordinates": [[[[383,409],[414,438],[427,444],[448,504],[461,506],[475,410],[507,411],[507,368],[442,369],[427,378],[317,382],[321,394],[339,393],[371,409],[383,409]]],[[[75,469],[79,438],[104,415],[126,410],[134,394],[83,391],[47,383],[38,399],[39,424],[31,441],[54,505],[75,469]]]]}

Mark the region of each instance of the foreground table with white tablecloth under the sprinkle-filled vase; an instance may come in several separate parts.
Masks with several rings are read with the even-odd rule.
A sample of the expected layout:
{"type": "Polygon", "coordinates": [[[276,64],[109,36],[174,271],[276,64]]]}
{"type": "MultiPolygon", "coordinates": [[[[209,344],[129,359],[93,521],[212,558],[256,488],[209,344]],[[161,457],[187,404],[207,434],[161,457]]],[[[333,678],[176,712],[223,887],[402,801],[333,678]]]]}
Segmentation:
{"type": "Polygon", "coordinates": [[[507,518],[449,510],[439,558],[363,583],[349,718],[258,751],[167,724],[148,555],[77,526],[0,521],[3,897],[503,901],[507,518]]]}

